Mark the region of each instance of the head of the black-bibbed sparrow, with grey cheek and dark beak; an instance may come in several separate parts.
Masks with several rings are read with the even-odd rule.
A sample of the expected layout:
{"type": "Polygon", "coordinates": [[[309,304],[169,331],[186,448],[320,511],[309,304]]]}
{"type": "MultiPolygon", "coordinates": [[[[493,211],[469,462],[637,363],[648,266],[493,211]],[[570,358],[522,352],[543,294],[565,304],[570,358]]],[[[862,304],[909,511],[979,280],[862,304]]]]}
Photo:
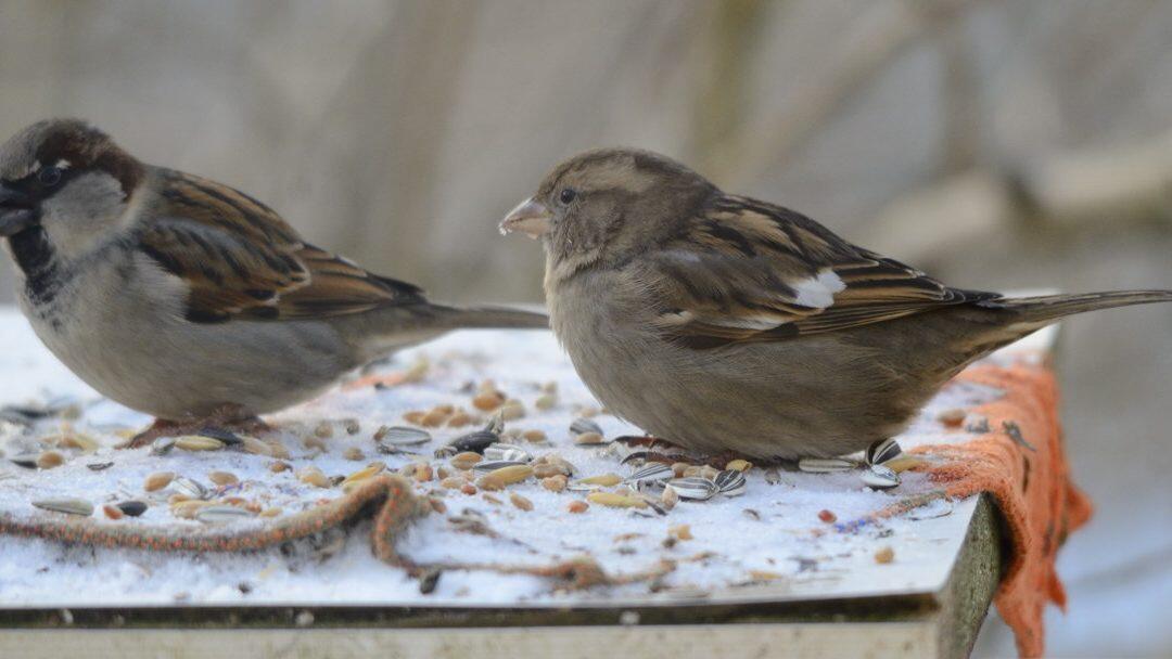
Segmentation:
{"type": "Polygon", "coordinates": [[[38,122],[0,146],[0,238],[43,229],[64,253],[113,232],[145,167],[76,119],[38,122]]]}

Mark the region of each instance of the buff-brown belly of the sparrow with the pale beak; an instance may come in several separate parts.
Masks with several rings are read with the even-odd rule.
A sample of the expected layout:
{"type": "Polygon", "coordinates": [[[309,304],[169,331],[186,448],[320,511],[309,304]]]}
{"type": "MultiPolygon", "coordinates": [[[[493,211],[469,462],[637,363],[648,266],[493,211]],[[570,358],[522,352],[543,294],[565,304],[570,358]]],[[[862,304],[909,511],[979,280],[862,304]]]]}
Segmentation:
{"type": "Polygon", "coordinates": [[[860,451],[899,433],[950,375],[918,378],[899,366],[898,350],[884,348],[884,337],[902,334],[894,327],[696,351],[632,322],[634,307],[594,300],[573,324],[551,308],[582,380],[618,416],[700,453],[792,459],[860,451]]]}

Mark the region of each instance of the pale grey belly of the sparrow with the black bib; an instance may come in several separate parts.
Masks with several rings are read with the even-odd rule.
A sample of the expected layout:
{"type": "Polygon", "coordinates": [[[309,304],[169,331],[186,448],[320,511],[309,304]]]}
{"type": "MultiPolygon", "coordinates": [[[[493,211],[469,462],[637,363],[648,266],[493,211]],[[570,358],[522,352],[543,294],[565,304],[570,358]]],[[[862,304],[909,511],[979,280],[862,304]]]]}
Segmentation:
{"type": "Polygon", "coordinates": [[[226,405],[260,414],[320,393],[356,365],[322,323],[191,323],[182,317],[177,280],[154,270],[130,276],[129,267],[150,266],[108,260],[86,270],[84,296],[66,281],[50,301],[21,300],[49,350],[128,407],[164,419],[226,405]]]}

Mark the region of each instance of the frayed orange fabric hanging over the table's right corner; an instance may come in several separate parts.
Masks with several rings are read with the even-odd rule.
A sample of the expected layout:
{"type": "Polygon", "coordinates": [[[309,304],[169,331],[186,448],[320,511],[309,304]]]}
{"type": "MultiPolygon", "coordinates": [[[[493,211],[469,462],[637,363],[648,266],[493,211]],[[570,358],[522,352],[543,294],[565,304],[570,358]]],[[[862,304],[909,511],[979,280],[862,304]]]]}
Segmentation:
{"type": "Polygon", "coordinates": [[[1058,386],[1044,366],[976,366],[959,379],[995,386],[1004,396],[972,411],[989,432],[961,445],[922,446],[917,453],[946,459],[927,469],[948,496],[990,493],[1008,522],[1013,554],[994,603],[1014,630],[1022,657],[1045,646],[1043,610],[1065,610],[1067,593],[1055,570],[1058,548],[1086,523],[1091,502],[1070,481],[1058,421],[1058,386]]]}

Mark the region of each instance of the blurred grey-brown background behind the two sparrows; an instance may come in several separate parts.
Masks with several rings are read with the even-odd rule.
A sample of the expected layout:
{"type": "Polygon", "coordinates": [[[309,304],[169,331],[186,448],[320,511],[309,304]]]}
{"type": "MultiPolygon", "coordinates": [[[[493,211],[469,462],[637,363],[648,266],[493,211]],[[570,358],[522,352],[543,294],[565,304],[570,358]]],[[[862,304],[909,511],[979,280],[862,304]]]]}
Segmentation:
{"type": "MultiPolygon", "coordinates": [[[[615,144],[958,286],[1172,287],[1167,1],[0,0],[0,133],[62,115],[440,300],[540,300],[496,222],[615,144]]],[[[1172,308],[1063,332],[1098,512],[1048,650],[1167,657],[1172,308]]],[[[1013,654],[994,617],[974,655],[1013,654]]]]}

